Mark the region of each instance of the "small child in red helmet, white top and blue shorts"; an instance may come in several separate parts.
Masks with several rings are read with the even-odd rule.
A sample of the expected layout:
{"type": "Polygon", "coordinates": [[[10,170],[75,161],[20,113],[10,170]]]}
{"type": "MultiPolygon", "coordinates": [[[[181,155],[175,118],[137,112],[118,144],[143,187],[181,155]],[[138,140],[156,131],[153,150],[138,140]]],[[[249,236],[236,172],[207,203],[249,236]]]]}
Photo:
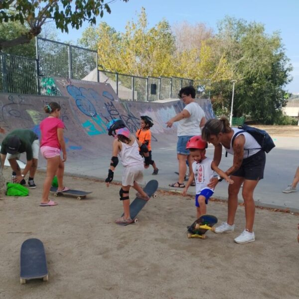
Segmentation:
{"type": "Polygon", "coordinates": [[[207,147],[207,142],[202,140],[201,136],[193,136],[186,145],[186,149],[190,150],[190,156],[194,162],[192,163],[192,173],[190,173],[182,195],[186,195],[189,186],[195,178],[195,206],[197,218],[207,213],[206,205],[208,204],[209,198],[214,193],[214,188],[209,188],[207,184],[210,182],[211,178],[215,176],[215,172],[219,175],[218,179],[223,177],[229,184],[234,183],[224,171],[217,167],[212,159],[205,156],[207,147]]]}

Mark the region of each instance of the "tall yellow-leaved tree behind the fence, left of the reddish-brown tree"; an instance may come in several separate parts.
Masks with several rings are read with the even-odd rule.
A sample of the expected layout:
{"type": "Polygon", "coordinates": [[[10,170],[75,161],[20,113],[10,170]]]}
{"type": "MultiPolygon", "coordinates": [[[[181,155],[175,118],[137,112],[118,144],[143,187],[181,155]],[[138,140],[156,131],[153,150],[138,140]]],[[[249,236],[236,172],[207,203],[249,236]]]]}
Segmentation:
{"type": "Polygon", "coordinates": [[[102,22],[87,28],[80,44],[98,50],[102,69],[137,76],[170,76],[174,64],[175,39],[167,21],[148,28],[143,8],[137,22],[128,22],[125,32],[117,32],[102,22]]]}

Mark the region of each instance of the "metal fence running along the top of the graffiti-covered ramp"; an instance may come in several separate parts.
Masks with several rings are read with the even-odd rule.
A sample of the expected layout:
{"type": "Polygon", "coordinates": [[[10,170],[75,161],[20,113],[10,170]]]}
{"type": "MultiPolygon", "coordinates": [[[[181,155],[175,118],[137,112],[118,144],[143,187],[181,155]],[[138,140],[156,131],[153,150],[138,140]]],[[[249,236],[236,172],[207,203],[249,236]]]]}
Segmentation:
{"type": "Polygon", "coordinates": [[[49,77],[109,83],[121,100],[151,102],[178,98],[192,85],[196,98],[210,98],[210,80],[138,77],[98,70],[96,51],[36,38],[36,59],[0,53],[0,92],[59,95],[49,77]],[[47,78],[44,80],[44,78],[47,78]]]}

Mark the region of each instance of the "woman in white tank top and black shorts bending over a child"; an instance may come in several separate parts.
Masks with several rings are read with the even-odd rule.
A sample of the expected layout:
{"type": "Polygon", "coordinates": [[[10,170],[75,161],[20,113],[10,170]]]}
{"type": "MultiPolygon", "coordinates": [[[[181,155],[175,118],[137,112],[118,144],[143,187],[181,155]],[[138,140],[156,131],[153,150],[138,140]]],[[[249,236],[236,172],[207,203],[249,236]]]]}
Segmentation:
{"type": "MultiPolygon", "coordinates": [[[[255,217],[254,189],[260,179],[264,177],[266,154],[249,133],[236,136],[234,144],[232,139],[239,131],[231,128],[226,117],[220,120],[207,121],[202,129],[202,138],[215,146],[214,160],[218,165],[222,156],[222,146],[228,153],[234,155],[233,165],[225,172],[231,176],[234,184],[228,186],[228,217],[227,222],[215,229],[216,233],[233,232],[235,215],[238,207],[238,193],[243,183],[242,196],[245,203],[246,225],[240,236],[234,239],[236,243],[244,244],[255,241],[253,224],[255,217]]],[[[218,180],[212,180],[209,187],[215,187],[218,180]]]]}

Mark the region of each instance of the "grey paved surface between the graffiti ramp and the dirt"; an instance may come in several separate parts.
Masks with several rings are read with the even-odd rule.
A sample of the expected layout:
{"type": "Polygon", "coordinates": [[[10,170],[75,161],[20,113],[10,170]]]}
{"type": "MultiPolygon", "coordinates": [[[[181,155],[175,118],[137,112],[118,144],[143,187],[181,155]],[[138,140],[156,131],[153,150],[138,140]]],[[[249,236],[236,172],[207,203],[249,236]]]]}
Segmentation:
{"type": "MultiPolygon", "coordinates": [[[[266,169],[264,179],[258,184],[254,198],[258,205],[274,208],[289,208],[291,211],[299,212],[299,191],[285,194],[282,192],[293,180],[297,166],[299,165],[299,138],[277,137],[275,138],[276,148],[267,154],[266,169]]],[[[112,142],[112,139],[111,139],[112,142]]],[[[177,160],[175,142],[164,148],[156,148],[153,145],[153,159],[159,168],[158,175],[151,175],[152,168],[145,170],[145,183],[150,179],[157,179],[159,187],[166,190],[173,190],[168,186],[169,183],[177,180],[177,160]]],[[[213,146],[209,145],[207,156],[213,156],[213,146]]],[[[104,179],[107,177],[109,160],[111,154],[97,159],[78,160],[66,164],[66,172],[74,175],[89,176],[104,179]]],[[[232,155],[225,157],[225,152],[221,159],[220,167],[228,169],[232,164],[232,155]]],[[[115,171],[115,181],[122,180],[122,165],[115,171]]],[[[227,183],[222,181],[216,187],[214,197],[227,200],[227,183]]],[[[178,189],[181,190],[181,189],[178,189]]],[[[194,187],[189,188],[190,193],[195,192],[194,187]]],[[[242,196],[239,196],[242,202],[242,196]]]]}

